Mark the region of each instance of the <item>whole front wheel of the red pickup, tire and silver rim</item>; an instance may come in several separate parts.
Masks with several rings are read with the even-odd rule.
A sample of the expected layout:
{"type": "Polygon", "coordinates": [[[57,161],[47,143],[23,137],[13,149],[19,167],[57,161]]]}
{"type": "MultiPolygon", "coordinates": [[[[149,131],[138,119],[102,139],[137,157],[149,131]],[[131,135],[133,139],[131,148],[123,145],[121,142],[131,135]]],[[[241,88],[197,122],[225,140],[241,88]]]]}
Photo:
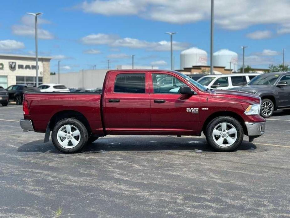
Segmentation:
{"type": "Polygon", "coordinates": [[[244,131],[239,121],[233,117],[214,118],[206,128],[208,144],[217,151],[235,150],[243,141],[244,131]]]}

